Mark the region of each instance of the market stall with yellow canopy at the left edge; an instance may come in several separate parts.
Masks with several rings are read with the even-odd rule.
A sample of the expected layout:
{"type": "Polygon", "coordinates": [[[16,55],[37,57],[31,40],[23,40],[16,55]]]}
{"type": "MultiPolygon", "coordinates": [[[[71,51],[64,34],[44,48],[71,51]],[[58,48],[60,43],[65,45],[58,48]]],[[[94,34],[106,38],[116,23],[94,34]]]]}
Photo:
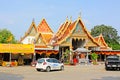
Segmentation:
{"type": "MultiPolygon", "coordinates": [[[[23,65],[25,54],[32,55],[33,53],[33,44],[0,44],[0,65],[23,65]]],[[[30,58],[32,59],[32,57],[30,58]]]]}

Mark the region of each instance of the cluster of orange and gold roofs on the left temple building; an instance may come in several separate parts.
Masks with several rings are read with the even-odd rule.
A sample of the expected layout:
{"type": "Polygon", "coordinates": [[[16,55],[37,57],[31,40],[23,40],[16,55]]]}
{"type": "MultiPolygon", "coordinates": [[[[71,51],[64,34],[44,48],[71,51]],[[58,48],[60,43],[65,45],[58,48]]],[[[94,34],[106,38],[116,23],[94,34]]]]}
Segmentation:
{"type": "Polygon", "coordinates": [[[24,40],[27,36],[34,36],[35,40],[36,40],[35,43],[37,43],[39,38],[41,38],[43,43],[44,43],[44,47],[47,47],[47,44],[49,44],[51,37],[53,36],[53,31],[51,30],[51,28],[47,24],[46,20],[42,19],[42,21],[40,22],[38,27],[36,27],[34,21],[32,22],[28,31],[20,39],[20,42],[22,42],[22,40],[24,40]]]}

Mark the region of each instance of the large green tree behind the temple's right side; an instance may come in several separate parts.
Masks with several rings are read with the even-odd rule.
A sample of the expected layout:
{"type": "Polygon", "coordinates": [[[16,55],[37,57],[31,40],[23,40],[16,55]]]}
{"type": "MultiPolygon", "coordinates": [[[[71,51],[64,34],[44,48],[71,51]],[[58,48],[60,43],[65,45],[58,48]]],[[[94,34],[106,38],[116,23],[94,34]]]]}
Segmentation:
{"type": "Polygon", "coordinates": [[[112,47],[114,50],[120,50],[120,36],[118,36],[116,29],[104,24],[94,26],[94,28],[91,29],[91,35],[93,37],[99,36],[101,33],[109,47],[112,47]]]}

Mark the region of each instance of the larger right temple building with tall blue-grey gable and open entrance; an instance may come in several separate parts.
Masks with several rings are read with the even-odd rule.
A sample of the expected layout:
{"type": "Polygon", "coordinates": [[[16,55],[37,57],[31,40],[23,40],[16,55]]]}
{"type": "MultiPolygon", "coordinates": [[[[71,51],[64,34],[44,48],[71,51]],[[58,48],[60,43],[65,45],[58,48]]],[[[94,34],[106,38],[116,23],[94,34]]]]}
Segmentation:
{"type": "Polygon", "coordinates": [[[79,58],[86,58],[88,60],[91,51],[111,50],[102,34],[95,38],[91,36],[80,17],[74,22],[66,19],[52,40],[54,47],[59,49],[59,55],[61,57],[66,50],[70,50],[72,52],[76,51],[79,58]]]}

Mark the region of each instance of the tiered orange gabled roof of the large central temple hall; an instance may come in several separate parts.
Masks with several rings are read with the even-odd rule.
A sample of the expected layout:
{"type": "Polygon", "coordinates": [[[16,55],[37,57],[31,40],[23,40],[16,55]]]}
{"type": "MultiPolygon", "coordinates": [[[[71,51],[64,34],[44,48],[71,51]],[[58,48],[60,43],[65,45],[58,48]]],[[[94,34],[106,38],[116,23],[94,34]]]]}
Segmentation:
{"type": "Polygon", "coordinates": [[[56,43],[55,44],[61,44],[63,41],[65,41],[68,37],[70,37],[73,33],[73,31],[75,30],[77,24],[81,24],[81,27],[83,29],[83,31],[85,32],[85,34],[89,37],[89,39],[96,44],[97,46],[99,46],[99,44],[95,41],[95,39],[90,35],[90,33],[87,31],[87,29],[85,28],[81,18],[79,17],[76,21],[74,21],[73,23],[69,23],[69,22],[65,22],[59,29],[59,31],[57,32],[57,34],[55,35],[55,37],[57,38],[56,43]],[[67,24],[67,25],[66,25],[67,24]]]}

